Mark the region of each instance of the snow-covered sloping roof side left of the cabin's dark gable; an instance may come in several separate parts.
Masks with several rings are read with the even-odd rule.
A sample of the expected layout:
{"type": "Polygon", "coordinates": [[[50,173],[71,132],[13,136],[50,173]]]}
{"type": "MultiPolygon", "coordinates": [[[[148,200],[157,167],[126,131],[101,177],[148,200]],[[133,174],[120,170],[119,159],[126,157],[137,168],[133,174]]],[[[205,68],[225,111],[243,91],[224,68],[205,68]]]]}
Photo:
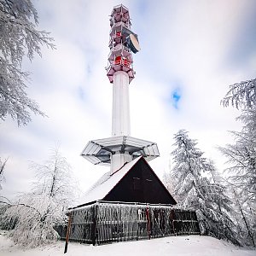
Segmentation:
{"type": "Polygon", "coordinates": [[[110,172],[105,173],[80,200],[79,206],[102,200],[142,157],[143,156],[137,157],[135,160],[126,163],[125,166],[120,168],[118,172],[114,172],[112,175],[110,172]]]}

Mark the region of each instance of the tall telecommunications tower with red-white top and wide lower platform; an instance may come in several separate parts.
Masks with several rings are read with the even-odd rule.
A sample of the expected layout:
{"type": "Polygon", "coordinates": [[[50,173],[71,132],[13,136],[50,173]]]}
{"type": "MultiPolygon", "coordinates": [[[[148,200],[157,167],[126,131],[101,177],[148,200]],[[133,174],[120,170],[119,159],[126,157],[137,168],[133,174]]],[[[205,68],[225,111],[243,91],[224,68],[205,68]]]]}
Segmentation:
{"type": "Polygon", "coordinates": [[[111,166],[117,172],[140,155],[146,160],[159,156],[156,143],[131,137],[129,84],[134,79],[132,53],[140,50],[137,34],[131,32],[129,10],[124,5],[110,15],[110,53],[107,75],[113,84],[112,137],[87,143],[82,155],[94,164],[111,166]]]}

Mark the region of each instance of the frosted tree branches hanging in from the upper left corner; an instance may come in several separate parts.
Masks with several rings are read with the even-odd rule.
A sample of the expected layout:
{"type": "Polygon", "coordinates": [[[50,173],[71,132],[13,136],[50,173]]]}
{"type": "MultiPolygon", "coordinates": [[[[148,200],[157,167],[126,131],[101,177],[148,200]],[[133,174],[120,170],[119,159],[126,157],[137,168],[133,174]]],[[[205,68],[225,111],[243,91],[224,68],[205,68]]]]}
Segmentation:
{"type": "Polygon", "coordinates": [[[21,70],[24,57],[41,56],[40,47],[53,49],[49,32],[38,31],[38,13],[31,0],[0,0],[0,119],[8,115],[18,125],[31,121],[31,112],[44,116],[26,94],[29,73],[21,70]]]}

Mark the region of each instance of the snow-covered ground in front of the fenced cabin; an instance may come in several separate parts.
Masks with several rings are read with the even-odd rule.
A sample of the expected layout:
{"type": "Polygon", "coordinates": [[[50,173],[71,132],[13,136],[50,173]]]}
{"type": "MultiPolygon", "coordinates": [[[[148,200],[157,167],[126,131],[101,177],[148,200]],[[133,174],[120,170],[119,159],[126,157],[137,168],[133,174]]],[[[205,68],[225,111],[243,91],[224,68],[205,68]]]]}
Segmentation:
{"type": "MultiPolygon", "coordinates": [[[[63,255],[64,241],[47,247],[24,250],[15,246],[6,236],[0,235],[1,256],[59,256],[63,255]]],[[[96,246],[70,242],[65,255],[132,255],[132,256],[255,256],[255,250],[235,247],[208,236],[169,236],[150,241],[126,241],[96,246]]]]}

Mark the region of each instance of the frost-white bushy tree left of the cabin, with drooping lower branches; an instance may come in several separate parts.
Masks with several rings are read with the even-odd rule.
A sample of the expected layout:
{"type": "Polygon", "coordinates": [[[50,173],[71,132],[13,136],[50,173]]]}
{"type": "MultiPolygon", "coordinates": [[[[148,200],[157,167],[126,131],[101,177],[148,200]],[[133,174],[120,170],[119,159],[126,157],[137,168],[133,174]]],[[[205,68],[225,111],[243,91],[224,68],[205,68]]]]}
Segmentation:
{"type": "Polygon", "coordinates": [[[43,165],[32,164],[38,177],[29,193],[20,195],[15,204],[7,204],[6,223],[15,221],[10,236],[26,247],[55,240],[56,224],[67,217],[65,211],[73,201],[73,178],[67,160],[55,149],[43,165]]]}

